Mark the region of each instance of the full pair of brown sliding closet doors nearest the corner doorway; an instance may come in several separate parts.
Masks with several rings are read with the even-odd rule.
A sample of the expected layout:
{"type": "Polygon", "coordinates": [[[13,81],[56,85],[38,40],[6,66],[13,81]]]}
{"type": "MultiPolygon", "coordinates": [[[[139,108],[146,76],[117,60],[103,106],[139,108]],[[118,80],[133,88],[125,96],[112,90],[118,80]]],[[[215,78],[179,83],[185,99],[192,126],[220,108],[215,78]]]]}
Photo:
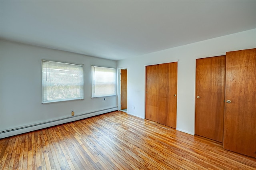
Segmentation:
{"type": "Polygon", "coordinates": [[[146,66],[146,119],[176,128],[178,63],[146,66]]]}

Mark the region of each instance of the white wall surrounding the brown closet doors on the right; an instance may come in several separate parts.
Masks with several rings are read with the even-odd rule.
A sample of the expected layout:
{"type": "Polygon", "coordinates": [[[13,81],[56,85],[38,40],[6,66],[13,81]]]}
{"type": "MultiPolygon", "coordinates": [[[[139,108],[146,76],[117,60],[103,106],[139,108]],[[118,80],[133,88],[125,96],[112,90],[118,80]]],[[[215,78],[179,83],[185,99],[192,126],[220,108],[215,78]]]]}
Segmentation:
{"type": "Polygon", "coordinates": [[[256,29],[118,61],[128,67],[128,114],[145,117],[145,66],[178,61],[177,130],[194,135],[196,59],[255,47],[256,29]]]}

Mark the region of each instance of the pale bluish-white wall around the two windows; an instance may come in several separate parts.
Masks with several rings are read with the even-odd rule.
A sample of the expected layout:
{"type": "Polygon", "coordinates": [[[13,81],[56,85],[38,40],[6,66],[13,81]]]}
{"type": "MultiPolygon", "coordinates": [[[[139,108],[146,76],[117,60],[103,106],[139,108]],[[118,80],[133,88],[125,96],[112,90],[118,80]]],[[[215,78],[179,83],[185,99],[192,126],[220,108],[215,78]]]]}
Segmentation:
{"type": "MultiPolygon", "coordinates": [[[[92,112],[100,114],[104,113],[102,110],[109,111],[110,108],[117,110],[116,96],[105,97],[106,101],[103,98],[92,99],[90,84],[91,65],[116,68],[116,61],[6,40],[1,40],[0,45],[1,132],[71,117],[71,111],[74,111],[75,116],[77,116],[92,112]],[[41,104],[41,59],[84,64],[85,99],[41,104]]],[[[95,113],[92,115],[95,115],[95,113]]],[[[70,120],[74,121],[75,119],[70,120]]],[[[64,122],[60,121],[59,123],[64,122]]],[[[54,124],[48,126],[50,125],[54,124]]],[[[40,128],[43,128],[43,126],[40,128]]],[[[28,130],[20,132],[26,131],[28,130]]],[[[9,135],[1,134],[0,137],[5,136],[9,135]]]]}

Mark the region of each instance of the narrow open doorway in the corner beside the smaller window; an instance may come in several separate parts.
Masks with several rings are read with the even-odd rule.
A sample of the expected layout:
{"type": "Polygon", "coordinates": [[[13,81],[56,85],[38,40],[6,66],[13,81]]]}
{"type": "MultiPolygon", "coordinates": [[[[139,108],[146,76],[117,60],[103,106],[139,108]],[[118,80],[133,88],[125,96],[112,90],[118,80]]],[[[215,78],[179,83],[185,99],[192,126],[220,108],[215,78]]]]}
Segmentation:
{"type": "Polygon", "coordinates": [[[120,69],[120,110],[128,113],[128,74],[127,67],[120,69]]]}

